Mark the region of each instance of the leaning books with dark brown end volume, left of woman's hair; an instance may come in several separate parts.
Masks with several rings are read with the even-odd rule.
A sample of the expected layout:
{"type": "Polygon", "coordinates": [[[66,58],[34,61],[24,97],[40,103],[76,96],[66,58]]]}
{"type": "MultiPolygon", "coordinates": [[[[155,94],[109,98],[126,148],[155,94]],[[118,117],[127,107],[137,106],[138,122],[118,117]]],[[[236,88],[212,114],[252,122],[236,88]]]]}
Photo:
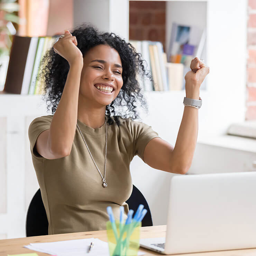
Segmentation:
{"type": "Polygon", "coordinates": [[[56,39],[56,36],[13,36],[4,92],[42,94],[43,83],[36,79],[40,61],[56,39]]]}

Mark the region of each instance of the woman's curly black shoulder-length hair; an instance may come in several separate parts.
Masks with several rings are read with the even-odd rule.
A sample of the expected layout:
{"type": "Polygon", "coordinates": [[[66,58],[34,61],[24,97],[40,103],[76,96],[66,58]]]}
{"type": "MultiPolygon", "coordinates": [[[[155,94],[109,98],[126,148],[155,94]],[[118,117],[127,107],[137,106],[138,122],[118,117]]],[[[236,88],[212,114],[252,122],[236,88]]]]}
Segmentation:
{"type": "MultiPolygon", "coordinates": [[[[108,124],[112,125],[116,123],[119,125],[120,121],[118,117],[131,118],[132,120],[140,119],[138,107],[142,107],[145,112],[147,112],[148,108],[137,79],[138,77],[142,79],[146,76],[150,81],[153,81],[150,71],[146,70],[146,65],[144,65],[146,61],[141,59],[141,54],[137,53],[130,43],[127,43],[118,35],[99,32],[90,23],[82,23],[74,28],[73,31],[70,31],[70,33],[76,37],[77,47],[83,56],[92,47],[100,44],[109,45],[116,49],[120,55],[123,67],[123,86],[116,99],[106,106],[108,124]],[[138,106],[138,103],[140,106],[138,106]]],[[[52,46],[40,63],[37,80],[42,79],[44,82],[43,99],[46,101],[48,111],[52,106],[53,114],[60,102],[68,71],[69,64],[67,60],[55,53],[52,46]]]]}

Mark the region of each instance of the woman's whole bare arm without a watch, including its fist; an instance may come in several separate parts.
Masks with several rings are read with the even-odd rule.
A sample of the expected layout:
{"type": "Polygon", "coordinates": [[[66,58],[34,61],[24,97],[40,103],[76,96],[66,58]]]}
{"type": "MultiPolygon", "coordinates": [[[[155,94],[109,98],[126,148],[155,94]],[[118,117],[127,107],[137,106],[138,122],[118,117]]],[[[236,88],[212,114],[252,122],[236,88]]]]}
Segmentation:
{"type": "Polygon", "coordinates": [[[65,32],[65,37],[59,39],[54,45],[54,51],[68,61],[70,69],[50,129],[43,131],[35,144],[37,152],[47,159],[68,156],[71,152],[76,130],[80,78],[83,68],[83,56],[76,45],[76,38],[69,32],[65,32]]]}

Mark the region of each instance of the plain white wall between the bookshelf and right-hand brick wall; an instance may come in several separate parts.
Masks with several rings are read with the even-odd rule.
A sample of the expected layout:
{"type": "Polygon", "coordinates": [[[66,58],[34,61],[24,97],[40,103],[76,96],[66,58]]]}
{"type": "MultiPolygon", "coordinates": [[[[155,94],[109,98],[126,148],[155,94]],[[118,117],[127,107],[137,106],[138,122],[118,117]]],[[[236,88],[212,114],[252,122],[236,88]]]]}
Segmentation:
{"type": "Polygon", "coordinates": [[[207,126],[222,134],[232,122],[245,120],[247,1],[211,0],[207,10],[207,126]]]}

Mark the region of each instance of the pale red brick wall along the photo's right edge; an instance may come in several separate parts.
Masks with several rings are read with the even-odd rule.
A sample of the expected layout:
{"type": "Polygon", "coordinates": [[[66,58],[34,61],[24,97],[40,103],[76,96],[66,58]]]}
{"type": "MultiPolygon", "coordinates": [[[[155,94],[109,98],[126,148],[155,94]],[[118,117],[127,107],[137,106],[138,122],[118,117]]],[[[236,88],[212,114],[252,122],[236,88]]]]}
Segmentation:
{"type": "Polygon", "coordinates": [[[256,120],[256,0],[248,0],[246,120],[256,120]]]}

